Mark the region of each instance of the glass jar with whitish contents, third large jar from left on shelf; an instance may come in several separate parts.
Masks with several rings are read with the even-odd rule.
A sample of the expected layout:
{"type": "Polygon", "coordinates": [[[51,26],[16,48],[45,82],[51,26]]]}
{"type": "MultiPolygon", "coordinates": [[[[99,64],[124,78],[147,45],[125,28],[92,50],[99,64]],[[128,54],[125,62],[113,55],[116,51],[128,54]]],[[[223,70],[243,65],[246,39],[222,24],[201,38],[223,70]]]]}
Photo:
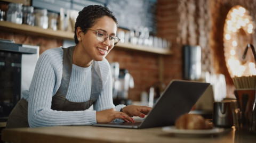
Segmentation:
{"type": "Polygon", "coordinates": [[[48,16],[46,9],[35,10],[35,26],[41,27],[43,29],[48,28],[48,16]]]}

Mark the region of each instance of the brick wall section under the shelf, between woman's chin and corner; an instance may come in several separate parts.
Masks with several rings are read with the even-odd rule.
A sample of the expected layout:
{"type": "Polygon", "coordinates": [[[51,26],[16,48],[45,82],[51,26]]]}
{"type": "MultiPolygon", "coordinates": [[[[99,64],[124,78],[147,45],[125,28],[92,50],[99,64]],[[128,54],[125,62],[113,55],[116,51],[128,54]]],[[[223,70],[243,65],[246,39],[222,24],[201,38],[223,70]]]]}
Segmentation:
{"type": "Polygon", "coordinates": [[[120,69],[127,69],[134,79],[134,88],[129,90],[129,98],[140,100],[142,91],[149,91],[151,85],[158,81],[158,55],[125,51],[115,47],[108,55],[107,60],[118,62],[120,69]]]}

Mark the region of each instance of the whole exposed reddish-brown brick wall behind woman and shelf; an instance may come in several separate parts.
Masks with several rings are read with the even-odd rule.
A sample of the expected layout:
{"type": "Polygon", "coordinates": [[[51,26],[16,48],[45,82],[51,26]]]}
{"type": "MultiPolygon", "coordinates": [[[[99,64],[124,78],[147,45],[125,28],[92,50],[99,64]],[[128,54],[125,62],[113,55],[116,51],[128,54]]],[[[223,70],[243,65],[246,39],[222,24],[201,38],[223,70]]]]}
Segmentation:
{"type": "MultiPolygon", "coordinates": [[[[182,45],[186,44],[201,46],[203,72],[222,73],[227,78],[229,74],[225,69],[226,64],[223,64],[223,19],[225,20],[227,12],[235,5],[244,6],[254,16],[255,3],[253,0],[158,0],[157,36],[170,40],[173,52],[171,56],[163,56],[165,84],[172,79],[182,79],[182,45]]],[[[61,46],[63,42],[4,31],[0,32],[0,38],[38,45],[41,53],[61,46]]],[[[148,92],[150,86],[159,80],[158,56],[147,52],[126,51],[118,47],[107,56],[109,62],[119,62],[120,68],[129,70],[133,75],[135,87],[129,92],[130,99],[140,100],[141,92],[148,92]]],[[[226,80],[229,89],[233,89],[232,81],[226,80]]]]}

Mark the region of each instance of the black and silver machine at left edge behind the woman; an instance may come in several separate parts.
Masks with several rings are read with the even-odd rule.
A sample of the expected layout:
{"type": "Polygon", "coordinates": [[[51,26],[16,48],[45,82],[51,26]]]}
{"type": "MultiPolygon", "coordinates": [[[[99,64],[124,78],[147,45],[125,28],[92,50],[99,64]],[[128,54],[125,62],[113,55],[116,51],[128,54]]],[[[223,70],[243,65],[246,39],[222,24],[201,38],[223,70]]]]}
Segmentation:
{"type": "Polygon", "coordinates": [[[0,39],[0,120],[5,121],[28,90],[33,78],[39,46],[15,44],[0,39]]]}

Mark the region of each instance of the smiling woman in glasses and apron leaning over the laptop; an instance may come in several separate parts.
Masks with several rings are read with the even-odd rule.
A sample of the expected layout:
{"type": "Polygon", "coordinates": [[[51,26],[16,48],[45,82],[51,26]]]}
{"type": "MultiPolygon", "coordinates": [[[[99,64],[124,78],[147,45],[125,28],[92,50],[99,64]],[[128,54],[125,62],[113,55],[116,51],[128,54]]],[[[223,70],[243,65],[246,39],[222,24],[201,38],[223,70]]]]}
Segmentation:
{"type": "Polygon", "coordinates": [[[98,5],[84,7],[75,31],[75,46],[49,49],[39,57],[29,91],[22,92],[6,128],[134,122],[131,116],[145,117],[151,110],[113,104],[105,57],[119,41],[114,14],[98,5]],[[91,105],[95,111],[87,110],[91,105]]]}

